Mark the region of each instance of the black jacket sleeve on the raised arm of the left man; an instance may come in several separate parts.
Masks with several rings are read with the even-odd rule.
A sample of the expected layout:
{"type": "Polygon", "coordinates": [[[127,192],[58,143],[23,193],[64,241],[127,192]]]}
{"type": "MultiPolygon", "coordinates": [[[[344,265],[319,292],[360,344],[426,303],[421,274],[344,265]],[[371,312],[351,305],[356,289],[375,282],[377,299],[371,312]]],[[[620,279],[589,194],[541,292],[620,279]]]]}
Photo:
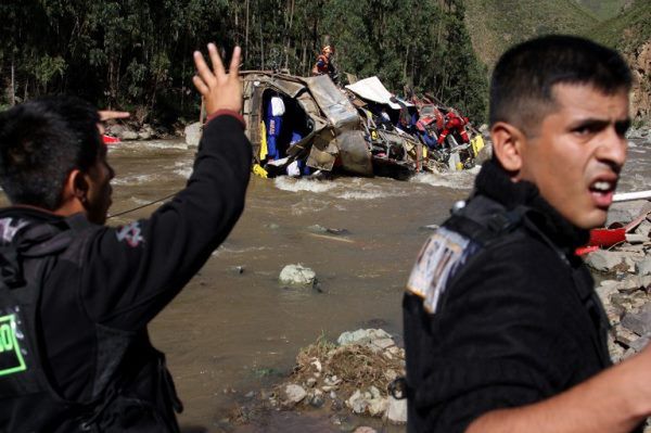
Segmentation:
{"type": "Polygon", "coordinates": [[[149,219],[103,228],[89,240],[80,302],[92,321],[140,329],[178,294],[244,209],[251,155],[241,119],[213,118],[174,200],[149,219]]]}

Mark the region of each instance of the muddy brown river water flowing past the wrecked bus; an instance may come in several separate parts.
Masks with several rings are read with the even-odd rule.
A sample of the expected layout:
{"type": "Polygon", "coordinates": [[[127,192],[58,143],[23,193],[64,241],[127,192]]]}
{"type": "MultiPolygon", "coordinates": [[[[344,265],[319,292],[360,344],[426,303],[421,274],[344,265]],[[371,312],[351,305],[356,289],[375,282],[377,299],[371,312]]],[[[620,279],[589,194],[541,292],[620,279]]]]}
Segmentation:
{"type": "MultiPolygon", "coordinates": [[[[195,151],[178,140],[111,147],[108,161],[117,173],[111,212],[181,189],[195,151]]],[[[341,332],[372,327],[401,342],[400,300],[430,233],[424,226],[445,219],[451,204],[468,195],[477,170],[422,174],[410,181],[252,177],[246,209],[231,235],[150,327],[186,406],[179,417],[182,430],[231,431],[222,420],[233,408],[252,391],[286,375],[298,349],[320,335],[336,340],[341,332]],[[283,266],[296,263],[316,271],[318,289],[279,285],[283,266]]],[[[618,192],[651,189],[650,179],[651,143],[638,141],[629,150],[618,192]]],[[[143,218],[154,209],[144,207],[108,224],[143,218]]],[[[341,431],[323,415],[281,413],[268,422],[241,431],[341,431]]],[[[350,422],[404,431],[379,421],[350,422]]]]}

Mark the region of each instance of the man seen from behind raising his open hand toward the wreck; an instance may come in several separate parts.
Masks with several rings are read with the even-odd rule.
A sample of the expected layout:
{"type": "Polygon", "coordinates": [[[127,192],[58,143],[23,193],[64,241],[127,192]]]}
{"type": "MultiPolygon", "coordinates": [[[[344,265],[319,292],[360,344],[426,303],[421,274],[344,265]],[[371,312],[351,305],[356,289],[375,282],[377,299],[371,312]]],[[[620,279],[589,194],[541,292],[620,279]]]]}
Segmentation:
{"type": "MultiPolygon", "coordinates": [[[[0,431],[179,432],[148,323],[226,239],[251,168],[235,48],[194,53],[205,125],[184,190],[149,219],[104,226],[114,171],[101,116],[71,97],[0,114],[0,431]]],[[[182,336],[179,336],[182,338],[182,336]]]]}

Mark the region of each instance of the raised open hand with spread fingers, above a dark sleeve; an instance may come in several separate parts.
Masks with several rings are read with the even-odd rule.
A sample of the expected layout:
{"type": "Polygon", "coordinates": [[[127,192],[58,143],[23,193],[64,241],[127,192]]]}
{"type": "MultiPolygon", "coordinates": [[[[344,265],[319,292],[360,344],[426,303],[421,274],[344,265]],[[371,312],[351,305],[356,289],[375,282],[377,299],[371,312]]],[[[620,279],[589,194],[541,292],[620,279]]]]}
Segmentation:
{"type": "Polygon", "coordinates": [[[242,110],[242,81],[240,80],[241,49],[235,47],[228,73],[224,69],[221,58],[214,43],[208,43],[208,54],[213,69],[206,64],[201,52],[194,52],[197,74],[192,78],[194,87],[204,97],[206,114],[218,110],[242,110]]]}

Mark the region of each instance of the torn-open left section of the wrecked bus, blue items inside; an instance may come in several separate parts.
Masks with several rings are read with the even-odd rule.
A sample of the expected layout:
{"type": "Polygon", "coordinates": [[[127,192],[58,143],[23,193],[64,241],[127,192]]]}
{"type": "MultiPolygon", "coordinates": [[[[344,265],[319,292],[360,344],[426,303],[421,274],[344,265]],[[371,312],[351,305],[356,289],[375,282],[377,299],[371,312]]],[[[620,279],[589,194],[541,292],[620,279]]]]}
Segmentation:
{"type": "Polygon", "coordinates": [[[371,152],[357,110],[329,77],[263,71],[243,72],[241,76],[246,135],[253,144],[254,171],[258,175],[284,175],[298,162],[310,174],[340,169],[357,176],[373,175],[371,152]],[[279,102],[276,106],[271,106],[272,98],[279,102]],[[271,160],[267,128],[269,117],[277,113],[269,110],[278,106],[282,107],[282,123],[272,125],[278,157],[271,160]]]}

